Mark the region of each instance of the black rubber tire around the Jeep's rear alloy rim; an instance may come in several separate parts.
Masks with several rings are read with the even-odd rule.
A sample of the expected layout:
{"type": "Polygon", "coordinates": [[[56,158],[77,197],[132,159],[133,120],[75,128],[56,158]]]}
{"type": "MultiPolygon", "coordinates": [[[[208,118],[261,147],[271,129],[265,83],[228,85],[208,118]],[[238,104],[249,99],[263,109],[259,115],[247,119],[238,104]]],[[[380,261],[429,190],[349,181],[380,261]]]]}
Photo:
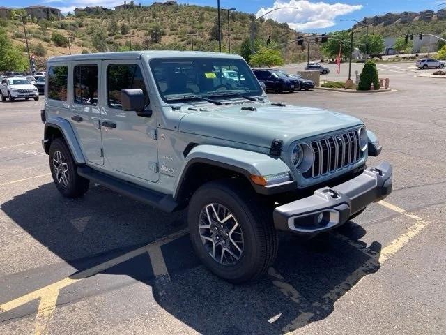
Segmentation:
{"type": "Polygon", "coordinates": [[[78,198],[88,191],[90,184],[89,179],[85,179],[77,174],[75,161],[72,159],[71,152],[65,141],[61,138],[53,140],[49,147],[49,169],[51,170],[56,188],[64,197],[78,198]],[[56,159],[58,152],[63,156],[64,164],[66,164],[66,167],[68,168],[68,172],[66,172],[68,177],[66,185],[63,184],[63,180],[59,180],[56,168],[54,167],[54,159],[56,159]]]}

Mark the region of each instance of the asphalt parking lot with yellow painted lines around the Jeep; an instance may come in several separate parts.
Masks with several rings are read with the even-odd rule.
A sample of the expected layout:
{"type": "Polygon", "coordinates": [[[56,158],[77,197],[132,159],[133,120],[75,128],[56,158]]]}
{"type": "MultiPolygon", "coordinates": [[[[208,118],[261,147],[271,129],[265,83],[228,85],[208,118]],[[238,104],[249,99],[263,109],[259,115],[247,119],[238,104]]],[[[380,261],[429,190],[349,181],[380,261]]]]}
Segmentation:
{"type": "Polygon", "coordinates": [[[446,80],[410,65],[378,65],[390,93],[270,94],[363,119],[394,192],[330,234],[281,236],[268,275],[245,285],[200,265],[184,211],[101,186],[62,198],[43,99],[0,103],[0,334],[444,334],[446,80]]]}

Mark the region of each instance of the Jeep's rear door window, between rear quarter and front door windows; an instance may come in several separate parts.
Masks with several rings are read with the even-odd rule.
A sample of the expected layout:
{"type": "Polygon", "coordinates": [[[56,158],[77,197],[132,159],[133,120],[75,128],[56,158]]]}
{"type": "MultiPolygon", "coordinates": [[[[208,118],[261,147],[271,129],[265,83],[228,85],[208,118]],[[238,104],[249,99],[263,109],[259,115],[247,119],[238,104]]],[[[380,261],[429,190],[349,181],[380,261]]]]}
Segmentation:
{"type": "Polygon", "coordinates": [[[77,65],[73,73],[75,103],[98,105],[98,66],[77,65]]]}

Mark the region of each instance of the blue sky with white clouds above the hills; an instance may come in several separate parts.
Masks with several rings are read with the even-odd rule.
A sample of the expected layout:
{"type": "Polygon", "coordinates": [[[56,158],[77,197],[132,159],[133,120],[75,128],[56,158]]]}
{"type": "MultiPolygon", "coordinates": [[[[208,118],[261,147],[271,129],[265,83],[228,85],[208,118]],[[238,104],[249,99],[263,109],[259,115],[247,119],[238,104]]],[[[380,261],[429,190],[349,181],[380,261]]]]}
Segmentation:
{"type": "MultiPolygon", "coordinates": [[[[157,0],[162,1],[162,0],[157,0]]],[[[1,5],[3,0],[1,0],[1,5]]],[[[14,7],[25,7],[36,4],[60,8],[63,13],[74,8],[85,6],[105,6],[112,8],[123,3],[124,0],[15,0],[14,7]]],[[[130,2],[130,0],[128,0],[130,2]]],[[[135,3],[150,5],[153,0],[136,0],[135,3]]],[[[217,6],[217,0],[178,0],[178,3],[189,3],[200,6],[217,6]]],[[[237,10],[254,13],[257,17],[268,10],[279,7],[297,7],[298,9],[275,10],[266,18],[272,18],[278,22],[286,22],[298,31],[312,31],[316,33],[348,29],[353,21],[362,20],[366,16],[382,15],[389,12],[402,13],[410,10],[438,10],[446,8],[446,0],[220,0],[222,8],[236,8],[237,10]],[[440,6],[437,6],[440,5],[440,6]]]]}

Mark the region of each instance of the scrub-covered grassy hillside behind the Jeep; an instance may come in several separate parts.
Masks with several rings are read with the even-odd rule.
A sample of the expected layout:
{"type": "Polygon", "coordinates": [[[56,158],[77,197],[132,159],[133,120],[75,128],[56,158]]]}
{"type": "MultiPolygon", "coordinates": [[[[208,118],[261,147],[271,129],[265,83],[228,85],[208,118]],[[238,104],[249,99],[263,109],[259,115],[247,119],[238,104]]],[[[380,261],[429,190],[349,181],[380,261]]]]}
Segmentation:
{"type": "MultiPolygon", "coordinates": [[[[243,42],[249,37],[249,27],[254,15],[231,13],[231,51],[239,53],[243,42]]],[[[33,20],[26,25],[31,52],[39,54],[38,63],[43,64],[47,57],[68,54],[63,40],[52,40],[54,34],[72,36],[71,52],[129,50],[132,35],[132,50],[190,50],[191,36],[194,36],[194,50],[217,51],[217,9],[201,6],[151,6],[133,8],[118,12],[100,12],[81,17],[67,17],[61,21],[33,20]],[[41,44],[40,47],[39,43],[41,44]],[[46,50],[46,54],[45,51],[46,50]]],[[[17,45],[24,46],[21,22],[2,20],[0,24],[8,31],[8,36],[17,45]]],[[[257,45],[264,45],[271,36],[271,45],[284,43],[297,38],[297,33],[287,24],[273,20],[258,20],[255,24],[257,45]]],[[[222,51],[227,50],[227,18],[222,11],[222,51]]],[[[282,47],[286,62],[305,59],[306,50],[294,43],[282,47]]],[[[318,58],[318,48],[312,49],[312,58],[318,58]]]]}

